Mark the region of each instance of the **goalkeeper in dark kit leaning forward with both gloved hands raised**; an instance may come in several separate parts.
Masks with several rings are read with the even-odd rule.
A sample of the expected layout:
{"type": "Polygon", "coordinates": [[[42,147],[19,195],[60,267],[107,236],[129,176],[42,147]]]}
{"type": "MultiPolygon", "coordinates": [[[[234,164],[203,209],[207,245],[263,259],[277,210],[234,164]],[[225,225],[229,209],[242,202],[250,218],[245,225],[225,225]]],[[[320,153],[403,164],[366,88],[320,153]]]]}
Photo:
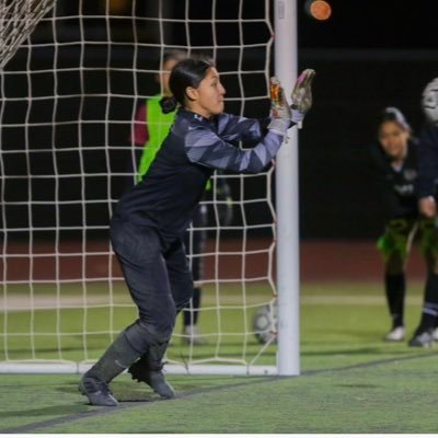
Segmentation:
{"type": "Polygon", "coordinates": [[[160,396],[174,396],[162,360],[176,314],[193,293],[184,232],[215,170],[258,173],[270,163],[288,128],[311,106],[313,73],[306,70],[299,77],[291,107],[273,82],[270,117],[260,122],[223,113],[226,90],[209,62],[187,58],[173,68],[173,96],[162,101],[162,108],[169,113],[178,105],[175,120],[147,174],[120,198],[111,221],[113,249],[139,315],[82,377],[79,389],[91,404],[117,405],[108,383],[126,368],[160,396]],[[238,140],[258,143],[244,151],[231,145],[238,140]]]}

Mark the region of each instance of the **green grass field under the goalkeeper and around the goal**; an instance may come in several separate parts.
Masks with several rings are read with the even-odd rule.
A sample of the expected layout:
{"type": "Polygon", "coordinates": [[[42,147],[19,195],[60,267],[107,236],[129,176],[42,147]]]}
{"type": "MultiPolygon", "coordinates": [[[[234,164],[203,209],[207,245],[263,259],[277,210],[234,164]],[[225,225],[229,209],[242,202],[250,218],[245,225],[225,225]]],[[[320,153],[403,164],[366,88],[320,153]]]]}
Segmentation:
{"type": "MultiPolygon", "coordinates": [[[[253,292],[254,297],[262,293],[253,292]]],[[[77,390],[78,374],[1,374],[0,434],[437,433],[438,422],[429,411],[436,402],[438,348],[408,348],[406,343],[381,341],[389,328],[382,286],[303,284],[301,293],[300,377],[169,374],[177,397],[161,401],[124,374],[112,383],[120,406],[104,408],[85,404],[77,390]]],[[[410,334],[418,323],[420,301],[422,285],[411,283],[406,308],[410,334]]],[[[205,306],[208,309],[208,298],[205,306]]],[[[131,308],[123,309],[116,319],[120,327],[132,318],[131,308]]],[[[241,323],[233,309],[226,311],[231,333],[241,323]]],[[[62,339],[62,347],[73,359],[84,315],[76,313],[79,309],[61,319],[43,312],[33,316],[38,318],[36,326],[43,331],[59,321],[66,324],[62,330],[70,335],[62,339]]],[[[107,318],[108,310],[96,307],[93,312],[87,318],[99,332],[96,321],[107,318]]],[[[8,330],[28,324],[28,318],[26,312],[10,313],[8,330]]],[[[1,324],[5,326],[4,320],[1,324]]],[[[204,333],[212,333],[215,324],[208,311],[201,315],[204,333]]],[[[16,336],[8,345],[10,355],[20,358],[28,348],[26,343],[28,339],[16,336]]],[[[105,343],[105,336],[92,336],[90,354],[99,354],[105,343]]],[[[227,356],[241,348],[242,339],[229,335],[222,344],[221,355],[227,356]]],[[[211,354],[215,345],[211,334],[199,356],[211,354]]],[[[247,355],[260,348],[253,337],[244,345],[247,355]]],[[[34,348],[38,355],[56,358],[57,346],[49,337],[42,336],[41,345],[34,348]]],[[[170,354],[182,356],[187,347],[174,337],[170,354]]],[[[269,347],[263,360],[274,364],[274,358],[275,348],[269,347]]]]}

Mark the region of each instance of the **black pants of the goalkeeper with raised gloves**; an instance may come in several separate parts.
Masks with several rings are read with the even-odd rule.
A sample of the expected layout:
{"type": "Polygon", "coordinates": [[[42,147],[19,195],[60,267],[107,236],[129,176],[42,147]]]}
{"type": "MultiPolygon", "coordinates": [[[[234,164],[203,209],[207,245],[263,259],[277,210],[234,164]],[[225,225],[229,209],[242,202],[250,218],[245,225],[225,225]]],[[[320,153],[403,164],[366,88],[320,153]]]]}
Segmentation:
{"type": "MultiPolygon", "coordinates": [[[[147,337],[169,339],[176,313],[193,295],[193,279],[181,239],[164,240],[157,230],[118,217],[111,222],[111,240],[126,284],[138,307],[147,337]]],[[[149,339],[145,339],[149,344],[149,339]]]]}

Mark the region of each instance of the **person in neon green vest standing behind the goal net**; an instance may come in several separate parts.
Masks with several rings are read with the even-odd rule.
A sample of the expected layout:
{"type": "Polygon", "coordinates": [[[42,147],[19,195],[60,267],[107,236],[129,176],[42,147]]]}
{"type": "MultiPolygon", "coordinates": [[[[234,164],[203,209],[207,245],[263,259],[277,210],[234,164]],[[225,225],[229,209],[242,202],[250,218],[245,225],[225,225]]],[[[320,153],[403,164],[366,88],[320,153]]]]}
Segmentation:
{"type": "MultiPolygon", "coordinates": [[[[142,148],[137,182],[140,182],[146,175],[174,119],[174,112],[164,114],[161,111],[160,101],[163,96],[172,95],[169,90],[170,72],[176,62],[186,57],[187,55],[183,50],[171,50],[164,54],[161,67],[162,71],[157,76],[162,93],[148,99],[137,111],[132,140],[136,146],[142,148]]],[[[212,192],[210,181],[207,183],[207,191],[210,194],[212,192]]],[[[215,194],[216,199],[221,201],[218,205],[220,224],[228,226],[232,219],[231,192],[223,178],[217,180],[215,194]]],[[[203,261],[200,254],[204,252],[207,240],[207,231],[205,230],[207,222],[207,207],[198,204],[192,219],[193,231],[186,231],[184,235],[185,247],[192,255],[191,270],[196,286],[194,287],[188,308],[183,311],[183,342],[194,345],[204,344],[197,324],[201,298],[201,288],[198,281],[203,276],[203,261]]]]}

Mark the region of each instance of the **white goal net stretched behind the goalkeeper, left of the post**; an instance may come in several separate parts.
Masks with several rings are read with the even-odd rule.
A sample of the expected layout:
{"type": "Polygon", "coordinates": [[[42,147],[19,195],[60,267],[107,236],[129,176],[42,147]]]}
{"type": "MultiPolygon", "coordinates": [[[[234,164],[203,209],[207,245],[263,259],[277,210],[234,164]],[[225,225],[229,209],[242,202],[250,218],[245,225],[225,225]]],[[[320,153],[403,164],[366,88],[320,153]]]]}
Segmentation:
{"type": "MultiPolygon", "coordinates": [[[[215,60],[226,111],[266,116],[270,7],[269,0],[57,0],[4,62],[0,370],[81,370],[136,319],[107,231],[137,168],[141,148],[131,132],[139,105],[160,92],[164,54],[181,49],[215,60]]],[[[203,253],[191,254],[204,264],[203,342],[191,342],[178,316],[170,369],[275,369],[273,172],[214,177],[204,200],[207,241],[203,253]],[[217,196],[221,180],[231,201],[217,196]],[[219,220],[224,203],[232,206],[229,223],[219,220]],[[253,319],[265,306],[270,311],[257,337],[253,319]]]]}

